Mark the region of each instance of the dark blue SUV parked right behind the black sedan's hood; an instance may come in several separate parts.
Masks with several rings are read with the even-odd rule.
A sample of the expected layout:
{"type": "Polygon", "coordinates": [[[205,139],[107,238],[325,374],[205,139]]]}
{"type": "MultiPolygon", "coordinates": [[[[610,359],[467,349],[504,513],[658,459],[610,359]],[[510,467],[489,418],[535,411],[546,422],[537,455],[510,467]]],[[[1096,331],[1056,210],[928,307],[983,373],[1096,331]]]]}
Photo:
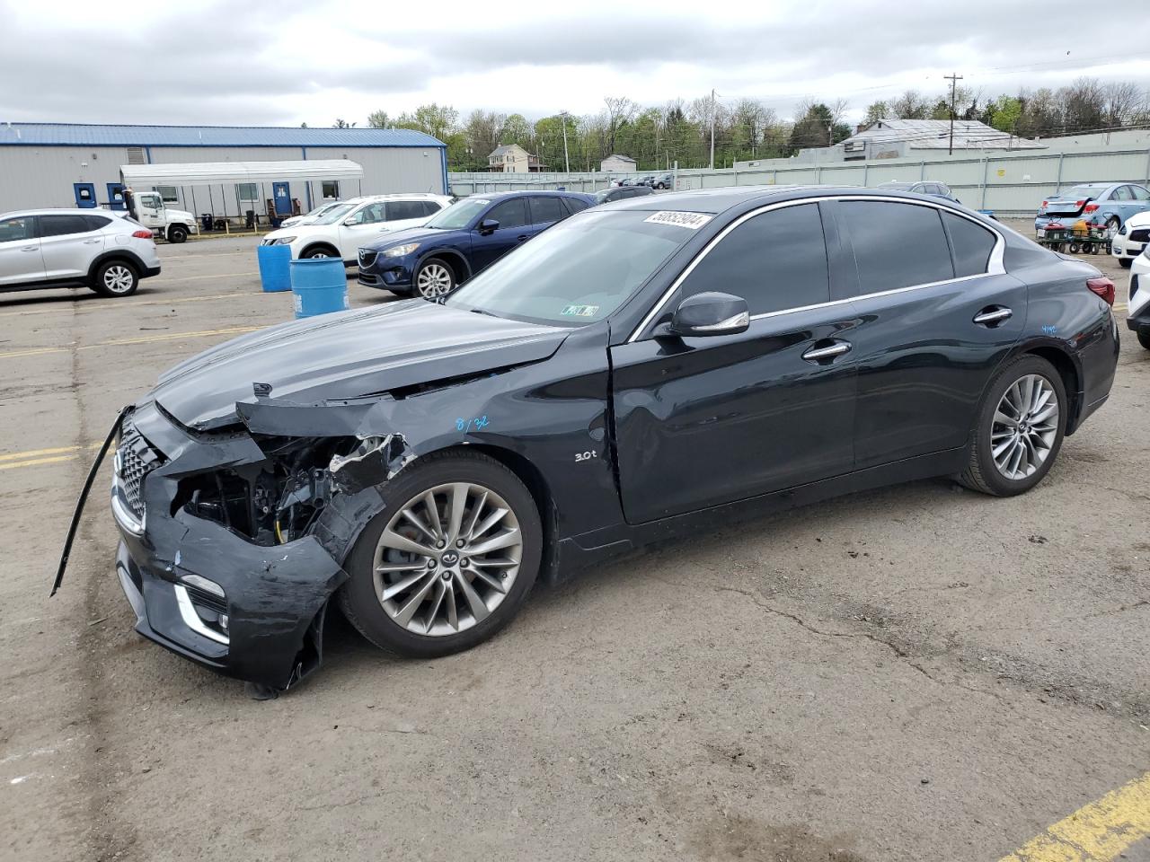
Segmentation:
{"type": "Polygon", "coordinates": [[[424,299],[445,297],[507,252],[595,206],[578,192],[504,192],[465,198],[422,228],[359,251],[359,283],[424,299]]]}

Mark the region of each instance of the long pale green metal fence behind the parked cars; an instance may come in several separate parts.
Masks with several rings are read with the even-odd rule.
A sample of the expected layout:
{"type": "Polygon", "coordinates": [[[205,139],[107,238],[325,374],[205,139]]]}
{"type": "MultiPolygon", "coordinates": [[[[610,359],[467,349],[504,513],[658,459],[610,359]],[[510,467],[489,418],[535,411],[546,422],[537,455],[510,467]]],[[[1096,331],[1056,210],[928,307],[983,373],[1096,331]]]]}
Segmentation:
{"type": "MultiPolygon", "coordinates": [[[[718,188],[731,185],[845,185],[875,186],[891,179],[929,179],[945,183],[954,197],[974,209],[1005,216],[1033,215],[1043,197],[1078,183],[1150,183],[1150,147],[1098,148],[1082,152],[1015,154],[934,159],[875,159],[860,162],[795,164],[776,159],[749,162],[722,170],[677,170],[675,188],[718,188]]],[[[591,174],[450,174],[455,194],[566,188],[592,192],[606,188],[621,176],[591,174]]]]}

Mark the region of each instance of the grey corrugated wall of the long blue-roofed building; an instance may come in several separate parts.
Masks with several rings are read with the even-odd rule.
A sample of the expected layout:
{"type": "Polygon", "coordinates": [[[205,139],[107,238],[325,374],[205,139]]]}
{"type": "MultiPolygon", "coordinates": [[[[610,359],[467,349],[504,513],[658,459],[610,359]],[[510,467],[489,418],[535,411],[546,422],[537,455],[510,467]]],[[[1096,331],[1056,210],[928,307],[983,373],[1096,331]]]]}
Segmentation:
{"type": "MultiPolygon", "coordinates": [[[[302,147],[151,147],[156,164],[187,162],[274,162],[305,157],[302,147]]],[[[351,159],[363,166],[361,182],[344,180],[342,198],[388,192],[442,193],[443,161],[437,147],[308,147],[307,159],[351,159]]],[[[43,207],[74,207],[72,183],[94,183],[97,200],[108,202],[108,183],[120,182],[120,166],[128,163],[126,147],[0,146],[0,213],[43,207]]],[[[262,183],[260,199],[240,201],[231,183],[182,186],[168,206],[193,216],[212,213],[240,216],[246,209],[264,210],[271,183],[262,183]]],[[[322,200],[320,182],[292,183],[291,197],[302,208],[322,200]],[[307,187],[310,186],[310,187],[307,187]],[[310,198],[308,193],[310,192],[310,198]]]]}

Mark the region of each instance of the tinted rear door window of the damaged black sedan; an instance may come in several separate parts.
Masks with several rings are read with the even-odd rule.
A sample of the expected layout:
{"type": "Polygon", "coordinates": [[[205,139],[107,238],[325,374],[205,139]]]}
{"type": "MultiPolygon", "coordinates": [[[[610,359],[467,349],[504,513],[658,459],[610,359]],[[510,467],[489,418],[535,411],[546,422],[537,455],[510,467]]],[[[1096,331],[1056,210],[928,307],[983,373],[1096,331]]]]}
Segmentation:
{"type": "Polygon", "coordinates": [[[859,293],[879,293],[954,277],[934,207],[849,200],[838,205],[854,248],[859,293]]]}

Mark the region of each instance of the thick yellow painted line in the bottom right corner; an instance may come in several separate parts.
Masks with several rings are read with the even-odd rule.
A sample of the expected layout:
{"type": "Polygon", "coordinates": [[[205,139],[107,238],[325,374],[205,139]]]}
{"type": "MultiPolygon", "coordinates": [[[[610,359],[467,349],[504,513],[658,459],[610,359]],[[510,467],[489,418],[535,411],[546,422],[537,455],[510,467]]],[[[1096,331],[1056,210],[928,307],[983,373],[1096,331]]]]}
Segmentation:
{"type": "Polygon", "coordinates": [[[1150,836],[1150,772],[1083,806],[999,862],[1109,862],[1150,836]]]}

